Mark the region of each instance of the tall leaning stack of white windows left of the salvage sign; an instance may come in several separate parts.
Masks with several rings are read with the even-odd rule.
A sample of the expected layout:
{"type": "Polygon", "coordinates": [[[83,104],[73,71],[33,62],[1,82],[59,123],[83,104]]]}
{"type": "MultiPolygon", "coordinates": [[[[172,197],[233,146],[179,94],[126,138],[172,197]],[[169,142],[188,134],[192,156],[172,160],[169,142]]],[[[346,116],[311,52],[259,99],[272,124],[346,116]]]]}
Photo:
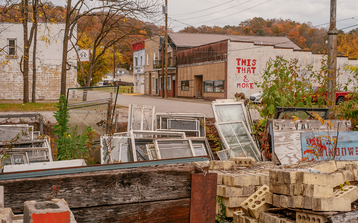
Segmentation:
{"type": "Polygon", "coordinates": [[[217,152],[219,159],[253,157],[260,162],[260,151],[251,136],[251,116],[245,103],[219,100],[211,105],[214,111],[215,126],[224,147],[224,150],[217,152]]]}

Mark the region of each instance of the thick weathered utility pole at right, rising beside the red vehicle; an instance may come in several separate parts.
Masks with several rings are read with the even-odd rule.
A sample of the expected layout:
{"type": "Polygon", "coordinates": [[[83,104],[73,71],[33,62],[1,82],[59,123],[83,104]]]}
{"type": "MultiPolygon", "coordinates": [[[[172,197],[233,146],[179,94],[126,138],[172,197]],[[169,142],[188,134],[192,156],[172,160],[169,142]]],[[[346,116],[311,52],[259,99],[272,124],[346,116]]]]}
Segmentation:
{"type": "Polygon", "coordinates": [[[331,0],[330,25],[328,30],[328,98],[330,107],[335,107],[337,79],[337,34],[336,28],[337,0],[331,0]]]}

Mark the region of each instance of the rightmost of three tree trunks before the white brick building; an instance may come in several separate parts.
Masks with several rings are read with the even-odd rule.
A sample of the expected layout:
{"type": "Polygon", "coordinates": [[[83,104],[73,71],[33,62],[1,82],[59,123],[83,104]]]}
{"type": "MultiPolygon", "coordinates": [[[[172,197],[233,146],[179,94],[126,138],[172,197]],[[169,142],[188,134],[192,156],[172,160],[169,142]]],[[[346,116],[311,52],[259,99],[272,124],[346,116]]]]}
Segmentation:
{"type": "Polygon", "coordinates": [[[61,95],[66,96],[66,76],[67,76],[67,51],[68,51],[68,36],[70,19],[71,19],[71,0],[67,0],[67,11],[66,11],[66,25],[65,33],[63,36],[63,49],[62,49],[62,68],[61,68],[61,95]]]}

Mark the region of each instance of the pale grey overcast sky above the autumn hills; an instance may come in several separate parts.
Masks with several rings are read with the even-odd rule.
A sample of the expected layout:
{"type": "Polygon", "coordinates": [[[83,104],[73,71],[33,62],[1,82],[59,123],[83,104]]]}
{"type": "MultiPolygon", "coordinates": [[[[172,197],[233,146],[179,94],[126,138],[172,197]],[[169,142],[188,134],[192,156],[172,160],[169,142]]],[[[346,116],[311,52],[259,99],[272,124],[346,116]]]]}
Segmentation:
{"type": "MultiPolygon", "coordinates": [[[[159,2],[165,4],[165,0],[159,2]]],[[[66,5],[65,0],[53,0],[53,3],[66,5]]],[[[337,0],[337,29],[357,25],[344,29],[348,32],[358,27],[357,3],[357,0],[337,0]],[[357,20],[348,19],[352,17],[357,20]],[[343,19],[347,20],[339,21],[343,19]]],[[[265,20],[282,17],[301,23],[310,21],[317,26],[329,23],[329,11],[330,0],[168,0],[169,28],[175,32],[188,25],[233,26],[253,17],[265,20]]],[[[156,25],[165,25],[164,16],[158,20],[156,25]]]]}

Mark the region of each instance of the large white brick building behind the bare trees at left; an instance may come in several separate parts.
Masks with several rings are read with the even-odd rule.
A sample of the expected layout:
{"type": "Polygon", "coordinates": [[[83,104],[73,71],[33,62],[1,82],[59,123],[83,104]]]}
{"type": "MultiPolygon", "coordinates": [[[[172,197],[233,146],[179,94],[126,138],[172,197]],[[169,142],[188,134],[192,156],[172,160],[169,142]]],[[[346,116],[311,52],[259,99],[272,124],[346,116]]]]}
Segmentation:
{"type": "MultiPolygon", "coordinates": [[[[28,30],[32,22],[28,22],[28,30]]],[[[54,100],[60,95],[61,64],[64,23],[38,23],[36,60],[36,100],[54,100]]],[[[20,59],[24,55],[24,31],[22,23],[0,23],[0,99],[23,99],[24,77],[20,71],[20,59]]],[[[74,36],[77,33],[74,31],[74,36]]],[[[73,42],[76,40],[73,37],[73,42]]],[[[29,54],[29,97],[32,97],[33,42],[29,54]]],[[[71,49],[68,45],[68,50],[71,49]]],[[[77,55],[68,52],[66,87],[77,87],[77,55]]]]}

